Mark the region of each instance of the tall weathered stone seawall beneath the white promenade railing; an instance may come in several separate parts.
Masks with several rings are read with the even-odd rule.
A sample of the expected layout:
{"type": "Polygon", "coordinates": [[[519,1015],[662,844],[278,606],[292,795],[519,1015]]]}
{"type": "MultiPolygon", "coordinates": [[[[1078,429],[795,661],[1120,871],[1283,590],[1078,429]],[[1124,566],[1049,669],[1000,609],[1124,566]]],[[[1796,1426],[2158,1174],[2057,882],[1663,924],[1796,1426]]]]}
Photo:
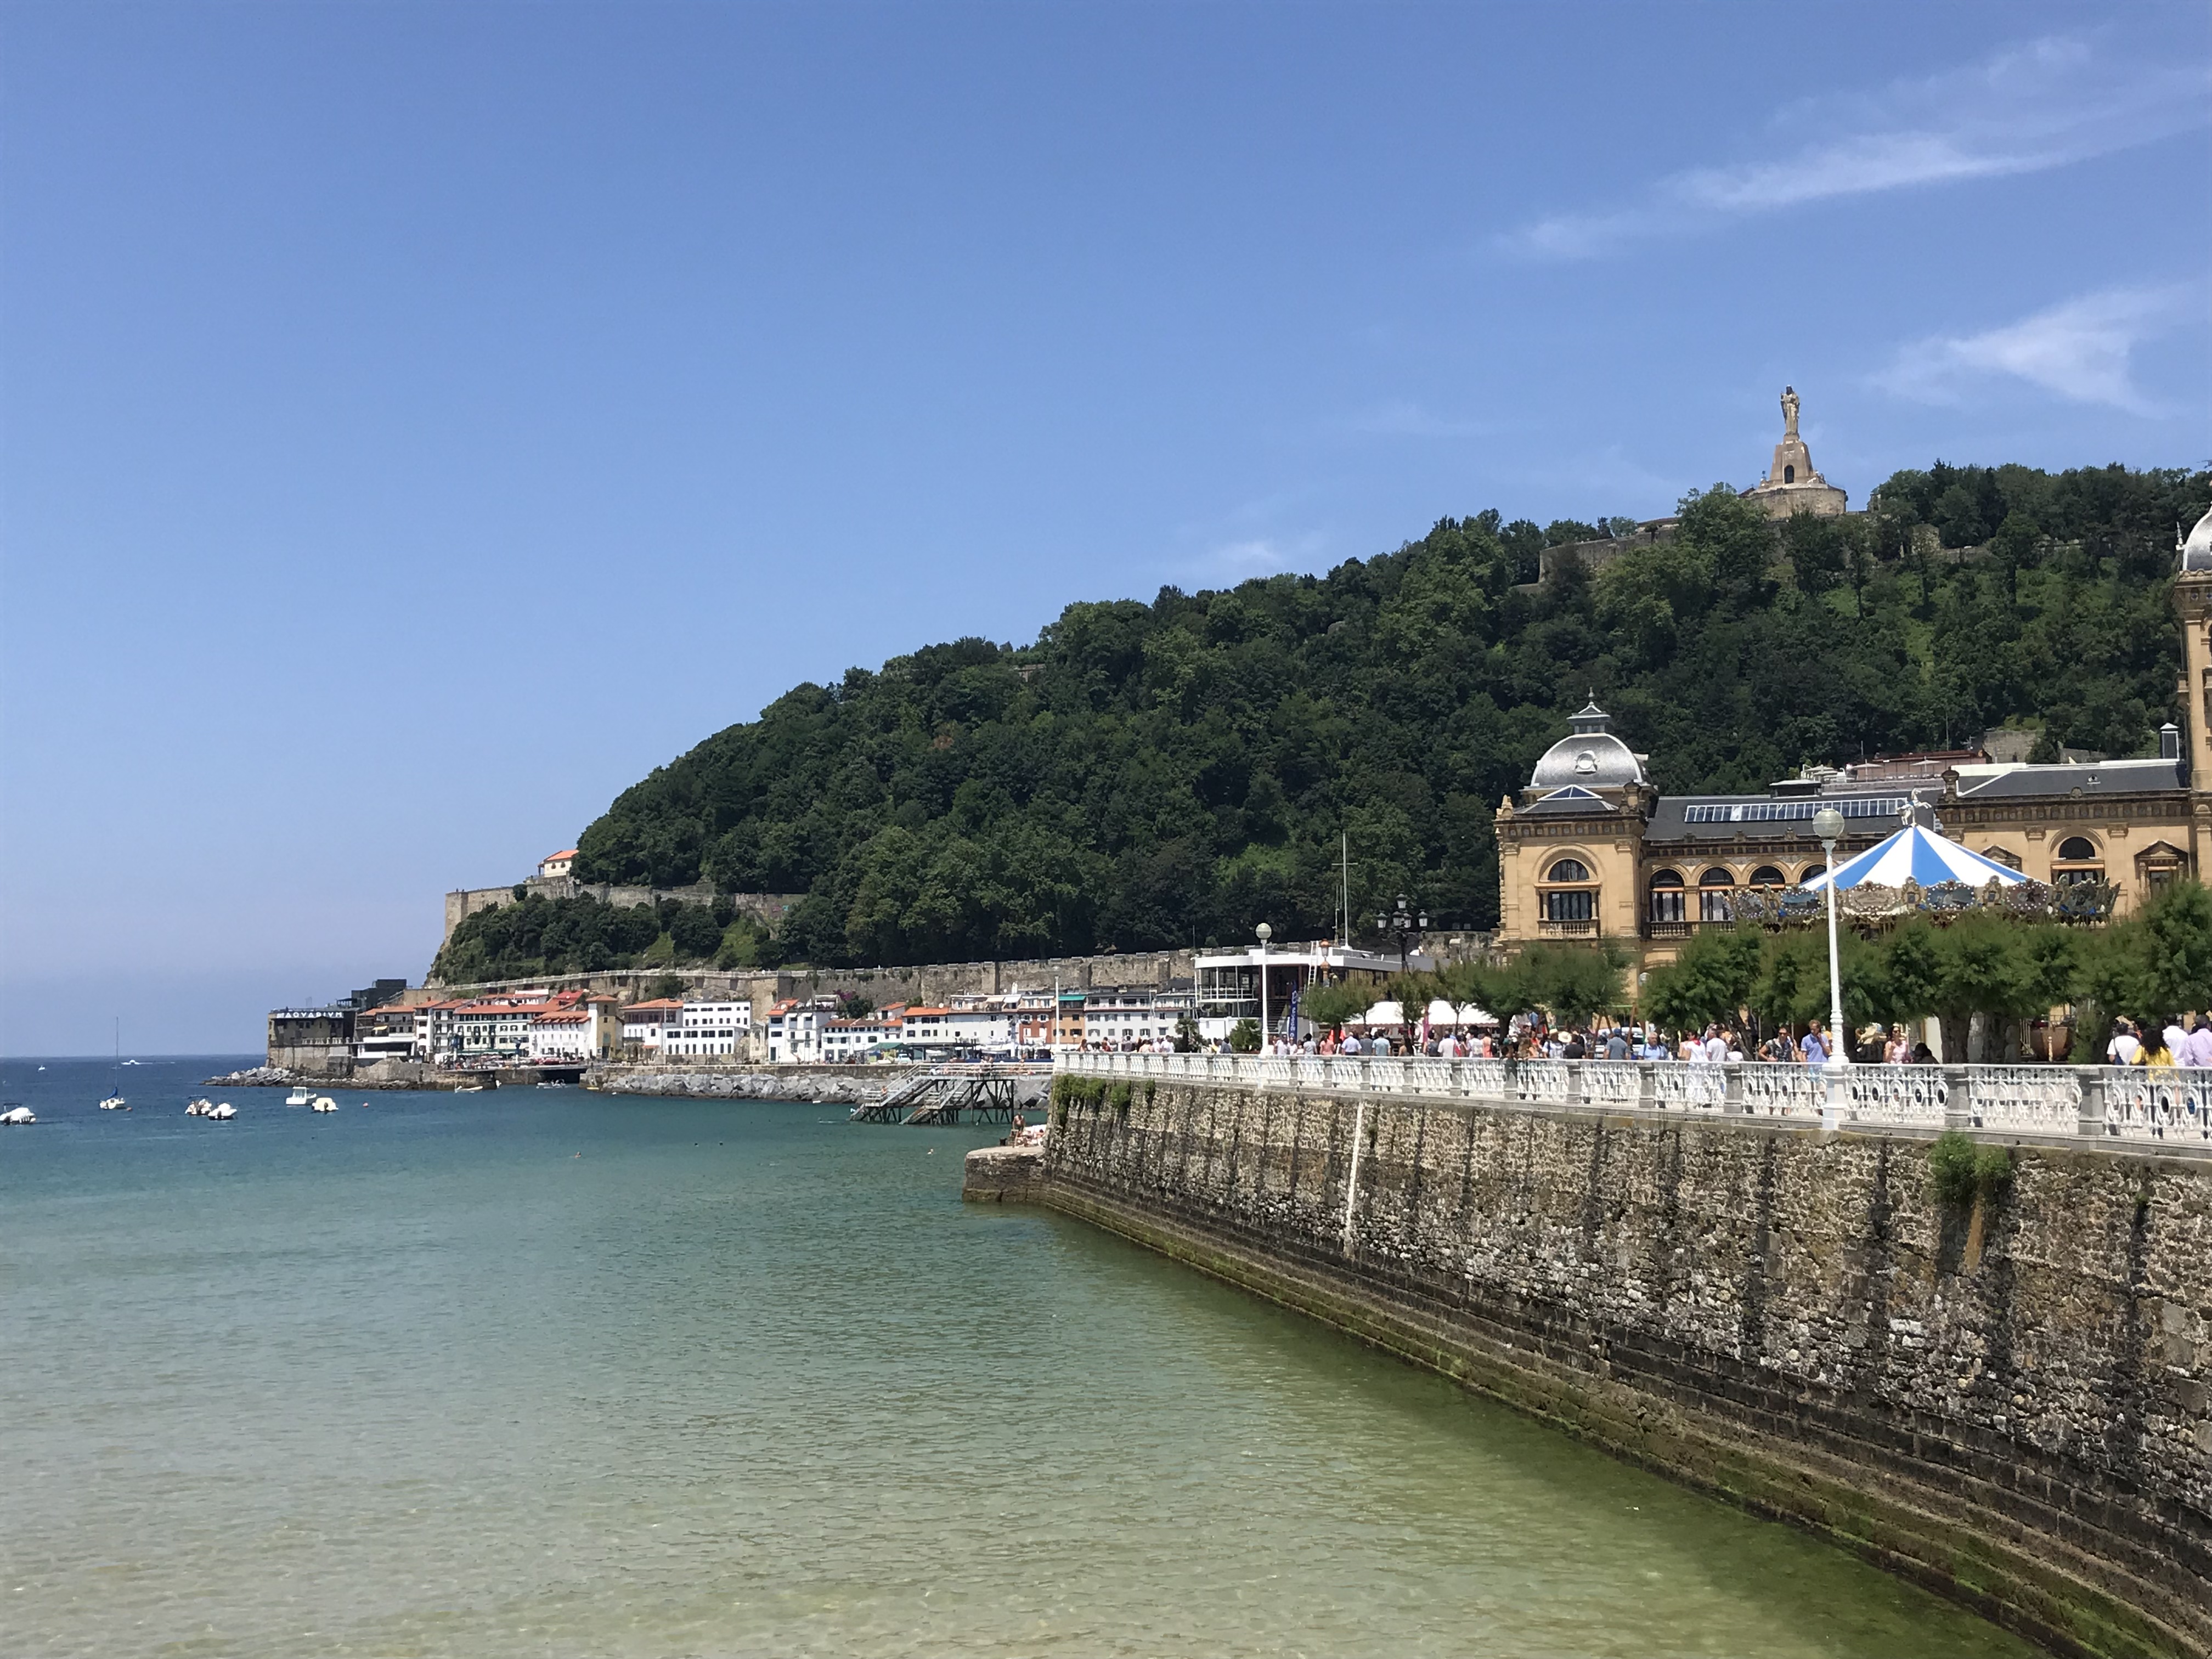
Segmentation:
{"type": "MultiPolygon", "coordinates": [[[[995,1181],[2059,1652],[2212,1655],[2212,1161],[1161,1082],[995,1181]]],[[[982,1194],[978,1194],[982,1197],[982,1194]]]]}

